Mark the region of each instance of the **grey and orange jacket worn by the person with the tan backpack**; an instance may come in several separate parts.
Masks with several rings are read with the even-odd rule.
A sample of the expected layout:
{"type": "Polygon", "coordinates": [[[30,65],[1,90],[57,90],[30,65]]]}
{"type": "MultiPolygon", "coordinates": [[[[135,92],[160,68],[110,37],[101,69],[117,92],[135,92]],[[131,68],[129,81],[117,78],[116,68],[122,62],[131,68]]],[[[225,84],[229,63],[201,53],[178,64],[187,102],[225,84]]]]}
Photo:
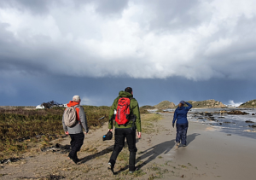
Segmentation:
{"type": "MultiPolygon", "coordinates": [[[[87,125],[87,119],[86,119],[86,116],[84,113],[84,108],[81,107],[78,102],[73,102],[73,101],[70,101],[69,103],[67,103],[67,107],[75,107],[76,108],[78,123],[77,123],[77,125],[75,125],[73,127],[67,127],[67,125],[65,125],[65,123],[64,123],[64,115],[63,115],[62,116],[62,125],[63,125],[64,131],[65,132],[68,131],[69,134],[79,134],[79,133],[83,132],[83,128],[84,128],[84,131],[87,133],[89,131],[89,129],[88,129],[88,125],[87,125]]],[[[66,109],[65,109],[65,111],[66,111],[66,109]]]]}

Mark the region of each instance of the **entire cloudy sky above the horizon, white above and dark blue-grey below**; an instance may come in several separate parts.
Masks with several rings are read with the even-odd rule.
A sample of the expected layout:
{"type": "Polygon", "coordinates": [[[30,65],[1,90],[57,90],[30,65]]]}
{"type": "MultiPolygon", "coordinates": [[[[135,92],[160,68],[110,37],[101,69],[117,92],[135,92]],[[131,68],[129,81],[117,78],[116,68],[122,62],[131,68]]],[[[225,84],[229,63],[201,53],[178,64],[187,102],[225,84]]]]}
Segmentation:
{"type": "Polygon", "coordinates": [[[255,0],[2,0],[0,105],[247,102],[255,34],[255,0]]]}

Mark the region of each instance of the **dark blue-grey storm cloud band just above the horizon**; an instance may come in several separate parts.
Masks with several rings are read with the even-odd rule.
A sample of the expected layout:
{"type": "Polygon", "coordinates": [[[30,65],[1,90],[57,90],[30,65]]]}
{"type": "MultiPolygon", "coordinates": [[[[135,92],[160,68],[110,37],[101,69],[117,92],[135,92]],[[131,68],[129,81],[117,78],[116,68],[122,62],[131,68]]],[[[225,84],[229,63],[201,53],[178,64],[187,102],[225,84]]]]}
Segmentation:
{"type": "MultiPolygon", "coordinates": [[[[185,78],[132,79],[132,78],[73,78],[67,76],[27,76],[24,74],[0,77],[5,96],[0,96],[0,105],[36,106],[42,102],[67,103],[74,95],[82,98],[82,104],[110,106],[120,90],[131,86],[134,97],[143,105],[156,105],[161,101],[177,104],[184,101],[215,99],[228,104],[246,102],[255,96],[256,81],[222,80],[189,81],[185,78]],[[8,84],[12,81],[12,84],[8,84]],[[79,87],[79,88],[78,88],[79,87]]],[[[0,94],[3,89],[0,90],[0,94]]]]}

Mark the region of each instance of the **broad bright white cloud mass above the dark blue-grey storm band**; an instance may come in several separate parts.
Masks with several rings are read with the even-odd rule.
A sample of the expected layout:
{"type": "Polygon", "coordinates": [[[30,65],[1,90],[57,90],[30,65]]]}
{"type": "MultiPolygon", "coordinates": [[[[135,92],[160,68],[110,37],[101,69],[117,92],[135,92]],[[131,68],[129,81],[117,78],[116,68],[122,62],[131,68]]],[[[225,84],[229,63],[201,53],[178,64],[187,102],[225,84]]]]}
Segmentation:
{"type": "MultiPolygon", "coordinates": [[[[119,15],[93,2],[79,8],[75,1],[53,2],[40,15],[15,6],[0,8],[0,25],[9,25],[0,31],[13,35],[0,35],[0,61],[18,70],[29,64],[34,71],[72,76],[200,80],[237,78],[241,61],[255,60],[250,47],[256,44],[255,1],[191,1],[185,9],[182,2],[172,3],[130,1],[119,4],[119,15]]],[[[241,69],[242,78],[256,77],[247,67],[252,65],[241,69]]]]}

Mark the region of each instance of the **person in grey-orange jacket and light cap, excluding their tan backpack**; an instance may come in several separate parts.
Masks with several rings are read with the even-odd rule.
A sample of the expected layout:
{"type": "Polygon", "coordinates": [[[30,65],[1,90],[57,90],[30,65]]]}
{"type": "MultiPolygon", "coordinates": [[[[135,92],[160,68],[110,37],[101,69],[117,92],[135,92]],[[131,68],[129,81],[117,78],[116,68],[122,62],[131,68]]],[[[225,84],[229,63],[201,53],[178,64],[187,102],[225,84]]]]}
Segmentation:
{"type": "Polygon", "coordinates": [[[70,160],[73,160],[75,164],[79,162],[77,153],[84,143],[84,134],[87,134],[89,131],[88,125],[87,125],[87,119],[84,113],[84,108],[80,106],[80,102],[81,102],[81,99],[79,96],[73,96],[73,101],[70,101],[69,103],[67,103],[67,107],[75,107],[76,109],[76,113],[77,113],[76,125],[74,125],[73,127],[68,127],[67,125],[65,125],[65,122],[64,122],[65,112],[63,113],[63,117],[62,117],[62,125],[65,131],[65,134],[69,135],[71,138],[71,142],[70,142],[71,151],[68,154],[68,157],[70,158],[70,160]],[[83,132],[83,128],[84,128],[84,132],[83,132]]]}

